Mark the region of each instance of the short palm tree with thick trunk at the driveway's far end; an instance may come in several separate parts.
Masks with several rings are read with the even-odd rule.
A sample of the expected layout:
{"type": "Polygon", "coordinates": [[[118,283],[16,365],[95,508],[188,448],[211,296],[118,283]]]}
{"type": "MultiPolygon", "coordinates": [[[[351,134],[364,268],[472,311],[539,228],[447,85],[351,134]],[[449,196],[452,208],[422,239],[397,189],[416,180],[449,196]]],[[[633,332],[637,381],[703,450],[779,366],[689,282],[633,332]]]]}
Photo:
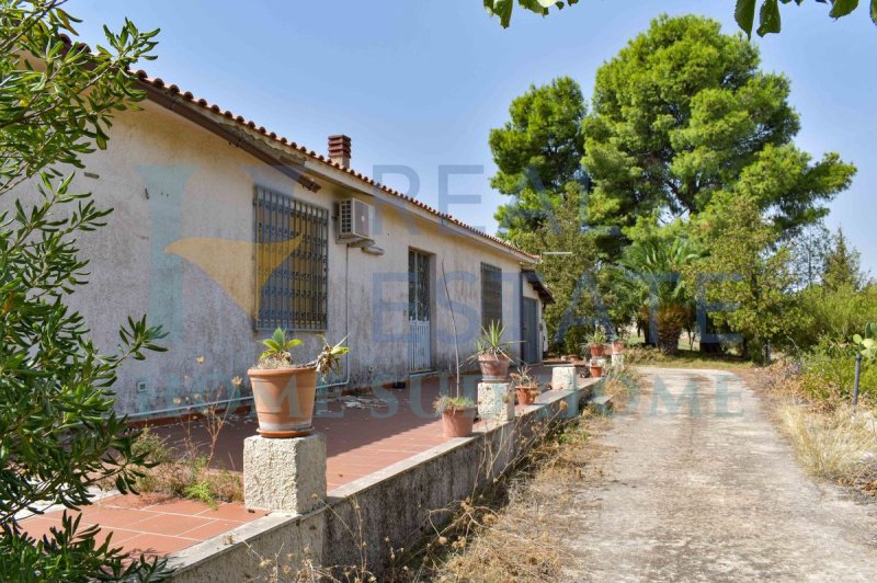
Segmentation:
{"type": "Polygon", "coordinates": [[[639,295],[640,318],[654,317],[658,338],[652,340],[663,353],[679,352],[679,336],[692,320],[693,294],[683,271],[697,258],[687,239],[651,239],[628,247],[619,262],[639,295]]]}

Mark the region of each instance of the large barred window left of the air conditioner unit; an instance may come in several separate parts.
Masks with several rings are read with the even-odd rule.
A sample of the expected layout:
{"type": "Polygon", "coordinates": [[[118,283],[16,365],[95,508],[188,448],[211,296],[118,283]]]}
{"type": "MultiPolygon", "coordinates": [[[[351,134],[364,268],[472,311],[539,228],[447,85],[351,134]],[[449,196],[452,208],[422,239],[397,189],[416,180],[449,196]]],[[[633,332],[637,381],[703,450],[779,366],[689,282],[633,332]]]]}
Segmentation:
{"type": "Polygon", "coordinates": [[[257,186],[258,330],[326,330],[329,212],[257,186]]]}

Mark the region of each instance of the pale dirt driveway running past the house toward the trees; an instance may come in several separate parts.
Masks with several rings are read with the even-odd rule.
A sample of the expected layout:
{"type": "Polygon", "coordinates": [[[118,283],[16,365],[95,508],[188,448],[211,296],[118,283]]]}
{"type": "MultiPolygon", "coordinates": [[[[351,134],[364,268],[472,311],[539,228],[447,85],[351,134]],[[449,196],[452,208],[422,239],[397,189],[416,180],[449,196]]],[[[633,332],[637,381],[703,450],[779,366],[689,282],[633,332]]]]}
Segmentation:
{"type": "Polygon", "coordinates": [[[877,581],[877,505],[807,477],[739,377],[642,370],[605,480],[573,493],[565,579],[877,581]]]}

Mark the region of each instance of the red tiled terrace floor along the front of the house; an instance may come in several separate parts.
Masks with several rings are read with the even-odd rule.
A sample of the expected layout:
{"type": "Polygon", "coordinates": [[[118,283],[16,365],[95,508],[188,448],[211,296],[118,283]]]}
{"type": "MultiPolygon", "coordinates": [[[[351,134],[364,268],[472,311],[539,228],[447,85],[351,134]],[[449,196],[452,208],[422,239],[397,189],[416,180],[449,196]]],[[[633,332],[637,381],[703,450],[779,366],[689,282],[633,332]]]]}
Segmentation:
{"type": "MultiPolygon", "coordinates": [[[[542,380],[546,380],[545,373],[546,369],[540,370],[542,380]]],[[[474,391],[477,381],[477,376],[467,376],[464,385],[474,391]]],[[[406,389],[385,389],[377,395],[388,407],[355,409],[335,400],[318,410],[314,425],[327,436],[329,493],[447,442],[442,436],[441,419],[432,413],[440,388],[435,377],[422,381],[412,378],[406,389]]],[[[255,421],[249,418],[230,420],[223,428],[212,466],[240,471],[243,439],[254,435],[255,427],[255,421]]],[[[168,437],[170,444],[179,444],[186,427],[176,423],[158,425],[153,431],[168,437]]],[[[207,434],[197,421],[189,423],[189,431],[197,443],[206,443],[207,434]]],[[[266,514],[248,511],[241,503],[221,503],[212,508],[202,502],[158,494],[115,495],[87,506],[82,524],[101,525],[102,531],[112,531],[112,541],[126,551],[164,556],[266,514]]],[[[59,526],[61,516],[61,511],[48,512],[26,518],[22,525],[39,537],[59,526]]]]}

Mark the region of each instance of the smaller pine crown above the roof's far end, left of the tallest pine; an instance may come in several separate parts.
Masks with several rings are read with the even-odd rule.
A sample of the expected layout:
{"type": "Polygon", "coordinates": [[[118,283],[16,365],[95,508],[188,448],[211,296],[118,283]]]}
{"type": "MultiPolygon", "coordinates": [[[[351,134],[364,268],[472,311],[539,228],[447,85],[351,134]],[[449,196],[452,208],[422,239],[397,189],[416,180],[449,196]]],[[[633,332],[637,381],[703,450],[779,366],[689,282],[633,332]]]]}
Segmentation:
{"type": "Polygon", "coordinates": [[[550,220],[566,199],[579,199],[585,113],[579,83],[561,77],[532,85],[512,101],[509,122],[491,129],[498,171],[490,184],[513,197],[497,212],[500,232],[511,241],[522,243],[523,236],[550,220]]]}

